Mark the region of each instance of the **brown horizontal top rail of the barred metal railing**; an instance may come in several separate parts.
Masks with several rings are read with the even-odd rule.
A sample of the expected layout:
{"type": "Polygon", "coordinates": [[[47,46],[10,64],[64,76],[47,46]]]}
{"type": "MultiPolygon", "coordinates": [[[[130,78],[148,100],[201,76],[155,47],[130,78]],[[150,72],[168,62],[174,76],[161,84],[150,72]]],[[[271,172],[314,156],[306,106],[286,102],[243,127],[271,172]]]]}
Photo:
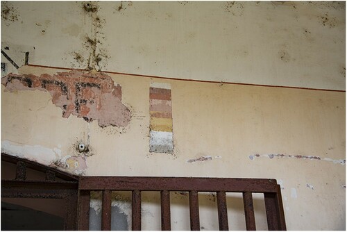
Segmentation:
{"type": "Polygon", "coordinates": [[[79,190],[277,192],[276,179],[81,176],[79,190]]]}

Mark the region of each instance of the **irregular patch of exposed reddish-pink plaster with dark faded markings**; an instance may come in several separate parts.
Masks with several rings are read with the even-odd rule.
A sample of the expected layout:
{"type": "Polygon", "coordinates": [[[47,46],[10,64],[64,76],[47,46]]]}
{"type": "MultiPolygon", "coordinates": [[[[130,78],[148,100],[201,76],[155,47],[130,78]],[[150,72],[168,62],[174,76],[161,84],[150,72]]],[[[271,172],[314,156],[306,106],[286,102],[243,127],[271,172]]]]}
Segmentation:
{"type": "Polygon", "coordinates": [[[101,72],[58,72],[42,74],[8,74],[1,79],[6,90],[42,90],[62,109],[62,117],[76,115],[85,121],[99,121],[99,126],[126,126],[130,110],[121,103],[121,86],[101,72]]]}

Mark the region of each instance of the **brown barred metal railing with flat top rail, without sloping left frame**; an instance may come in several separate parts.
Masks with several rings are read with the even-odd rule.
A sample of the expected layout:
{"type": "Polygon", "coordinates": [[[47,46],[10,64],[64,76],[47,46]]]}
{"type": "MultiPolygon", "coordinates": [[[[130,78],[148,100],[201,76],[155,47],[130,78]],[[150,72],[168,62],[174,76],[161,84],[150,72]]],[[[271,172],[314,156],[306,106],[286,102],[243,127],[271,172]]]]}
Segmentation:
{"type": "Polygon", "coordinates": [[[170,192],[189,192],[190,228],[200,230],[198,192],[217,192],[219,230],[228,230],[227,192],[242,192],[246,229],[255,230],[252,193],[264,193],[269,230],[286,230],[280,186],[275,179],[80,176],[78,181],[78,230],[89,229],[90,192],[102,191],[101,230],[111,229],[111,192],[132,192],[132,227],[141,230],[141,192],[160,192],[161,229],[171,230],[170,192]]]}

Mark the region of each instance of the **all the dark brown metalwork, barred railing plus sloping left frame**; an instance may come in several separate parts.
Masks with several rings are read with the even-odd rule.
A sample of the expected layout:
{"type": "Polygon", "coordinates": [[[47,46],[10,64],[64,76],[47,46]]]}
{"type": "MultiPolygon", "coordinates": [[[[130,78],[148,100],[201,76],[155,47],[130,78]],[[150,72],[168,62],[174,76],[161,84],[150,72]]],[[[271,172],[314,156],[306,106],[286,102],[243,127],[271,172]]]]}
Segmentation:
{"type": "Polygon", "coordinates": [[[1,162],[17,164],[15,179],[1,179],[1,197],[65,199],[65,229],[89,230],[90,192],[102,191],[101,230],[111,229],[112,191],[132,192],[133,231],[141,228],[141,193],[160,192],[162,230],[171,230],[170,192],[189,192],[191,230],[200,230],[198,192],[216,192],[219,229],[228,230],[227,192],[243,195],[246,229],[256,230],[252,193],[263,193],[269,230],[286,230],[280,185],[276,179],[73,176],[29,160],[1,154],[1,162]],[[46,173],[45,181],[26,180],[25,169],[46,173]],[[59,181],[56,180],[59,177],[59,181]]]}

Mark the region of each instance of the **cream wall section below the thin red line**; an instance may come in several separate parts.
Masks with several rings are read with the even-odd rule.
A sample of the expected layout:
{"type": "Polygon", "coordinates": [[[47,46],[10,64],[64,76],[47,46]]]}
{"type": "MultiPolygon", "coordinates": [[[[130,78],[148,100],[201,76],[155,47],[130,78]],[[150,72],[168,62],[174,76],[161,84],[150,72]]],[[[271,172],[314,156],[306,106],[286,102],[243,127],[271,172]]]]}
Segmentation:
{"type": "MultiPolygon", "coordinates": [[[[19,71],[39,75],[59,70],[22,67],[19,71]]],[[[82,171],[90,176],[274,178],[282,184],[287,229],[345,229],[345,92],[109,75],[122,86],[122,101],[132,114],[128,126],[101,128],[96,121],[87,123],[73,115],[65,119],[49,93],[8,92],[1,85],[1,150],[50,165],[58,158],[78,156],[76,144],[89,140],[94,155],[86,158],[87,169],[82,171]],[[171,84],[174,155],[149,153],[151,82],[171,84]],[[203,156],[211,159],[187,162],[203,156]]],[[[65,171],[81,173],[74,167],[65,171]]],[[[173,201],[182,200],[179,197],[174,194],[173,201]]],[[[201,226],[218,229],[211,199],[202,201],[208,203],[201,226]]],[[[229,201],[242,207],[240,196],[229,201]]],[[[156,215],[158,208],[155,211],[150,203],[147,210],[156,215]]],[[[256,218],[264,219],[263,206],[257,205],[256,218]]],[[[187,211],[181,207],[174,204],[173,215],[176,222],[186,223],[187,211]]],[[[151,222],[144,228],[160,229],[151,227],[152,216],[144,215],[145,222],[151,222]]],[[[242,210],[230,211],[229,217],[230,228],[244,229],[239,222],[242,210]]],[[[258,229],[266,229],[260,219],[257,223],[258,229]]]]}

